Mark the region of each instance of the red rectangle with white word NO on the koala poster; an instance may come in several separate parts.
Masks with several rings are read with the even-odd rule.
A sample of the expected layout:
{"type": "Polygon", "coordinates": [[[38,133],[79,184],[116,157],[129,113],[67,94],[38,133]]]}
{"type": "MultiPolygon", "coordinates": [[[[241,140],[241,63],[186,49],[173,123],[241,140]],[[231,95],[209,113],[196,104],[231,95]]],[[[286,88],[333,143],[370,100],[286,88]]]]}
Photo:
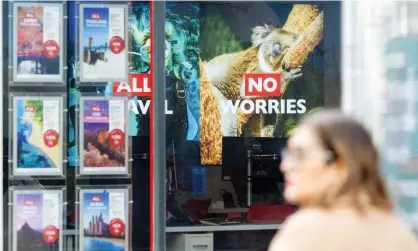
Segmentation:
{"type": "Polygon", "coordinates": [[[246,97],[272,97],[281,95],[280,74],[251,73],[244,76],[246,97]]]}

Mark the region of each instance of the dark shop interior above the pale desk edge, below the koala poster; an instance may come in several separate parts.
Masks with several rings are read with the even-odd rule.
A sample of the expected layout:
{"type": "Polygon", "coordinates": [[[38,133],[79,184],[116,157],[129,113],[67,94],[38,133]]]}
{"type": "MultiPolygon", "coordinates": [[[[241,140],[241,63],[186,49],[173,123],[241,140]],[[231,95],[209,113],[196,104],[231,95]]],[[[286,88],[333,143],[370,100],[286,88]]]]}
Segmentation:
{"type": "Polygon", "coordinates": [[[223,137],[220,166],[191,166],[198,160],[191,149],[198,144],[178,144],[167,153],[167,210],[172,215],[167,227],[274,224],[293,211],[282,198],[279,170],[286,138],[223,137]],[[176,152],[188,145],[186,156],[176,152]],[[268,211],[276,213],[261,214],[268,211]]]}

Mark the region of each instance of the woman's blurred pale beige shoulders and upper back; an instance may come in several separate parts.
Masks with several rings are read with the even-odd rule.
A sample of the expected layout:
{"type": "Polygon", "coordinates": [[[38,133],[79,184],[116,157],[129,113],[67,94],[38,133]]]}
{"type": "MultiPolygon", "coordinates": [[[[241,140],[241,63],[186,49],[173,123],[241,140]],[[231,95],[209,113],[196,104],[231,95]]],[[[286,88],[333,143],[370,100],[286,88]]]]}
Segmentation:
{"type": "Polygon", "coordinates": [[[385,247],[401,246],[403,249],[396,250],[418,250],[411,231],[392,213],[372,210],[361,215],[348,209],[309,208],[297,211],[285,221],[269,250],[319,250],[323,249],[324,240],[327,240],[329,247],[340,247],[341,243],[349,242],[363,248],[370,246],[369,242],[380,243],[378,240],[382,239],[385,247]]]}

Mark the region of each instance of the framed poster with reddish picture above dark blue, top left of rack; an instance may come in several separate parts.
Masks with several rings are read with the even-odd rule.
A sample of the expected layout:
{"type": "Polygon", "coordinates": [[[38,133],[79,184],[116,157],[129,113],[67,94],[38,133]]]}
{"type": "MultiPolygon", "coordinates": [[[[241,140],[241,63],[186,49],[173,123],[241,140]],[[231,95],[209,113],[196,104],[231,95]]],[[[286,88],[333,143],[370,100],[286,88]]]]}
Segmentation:
{"type": "Polygon", "coordinates": [[[15,82],[62,82],[62,5],[14,6],[15,82]]]}

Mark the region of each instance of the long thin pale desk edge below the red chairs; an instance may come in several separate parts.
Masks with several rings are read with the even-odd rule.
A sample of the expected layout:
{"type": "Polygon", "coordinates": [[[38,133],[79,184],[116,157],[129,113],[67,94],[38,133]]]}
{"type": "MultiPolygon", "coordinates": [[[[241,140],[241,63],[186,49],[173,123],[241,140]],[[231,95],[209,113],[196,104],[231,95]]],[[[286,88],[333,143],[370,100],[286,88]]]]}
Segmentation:
{"type": "Polygon", "coordinates": [[[257,231],[279,230],[281,224],[247,223],[223,226],[182,226],[166,227],[167,233],[196,233],[196,232],[221,232],[221,231],[257,231]]]}

